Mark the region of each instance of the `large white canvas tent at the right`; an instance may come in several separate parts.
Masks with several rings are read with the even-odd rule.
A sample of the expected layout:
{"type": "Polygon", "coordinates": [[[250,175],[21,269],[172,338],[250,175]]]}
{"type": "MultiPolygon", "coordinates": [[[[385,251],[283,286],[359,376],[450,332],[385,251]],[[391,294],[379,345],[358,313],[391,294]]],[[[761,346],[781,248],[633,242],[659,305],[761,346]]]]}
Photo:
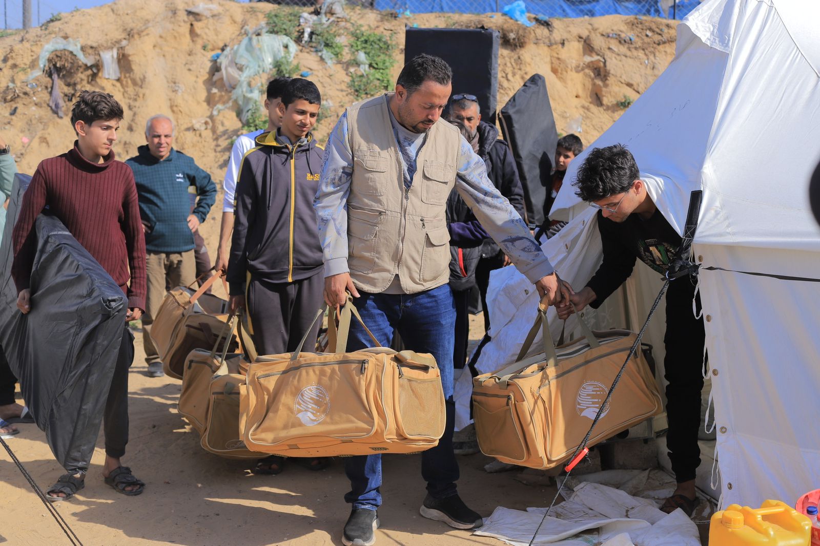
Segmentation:
{"type": "MultiPolygon", "coordinates": [[[[818,22],[820,2],[704,2],[678,26],[667,70],[590,146],[625,143],[679,233],[690,192],[704,191],[693,249],[724,504],[793,504],[820,488],[820,228],[808,198],[820,159],[818,22]]],[[[570,223],[544,250],[580,289],[600,260],[594,211],[565,184],[552,216],[562,215],[570,223]]],[[[639,326],[660,285],[647,271],[610,298],[625,315],[608,315],[608,300],[594,322],[639,326]]],[[[537,305],[512,268],[494,274],[490,293],[481,371],[514,360],[537,305]]],[[[649,338],[662,346],[663,312],[653,323],[649,338]]],[[[456,396],[464,425],[467,378],[456,396]]]]}

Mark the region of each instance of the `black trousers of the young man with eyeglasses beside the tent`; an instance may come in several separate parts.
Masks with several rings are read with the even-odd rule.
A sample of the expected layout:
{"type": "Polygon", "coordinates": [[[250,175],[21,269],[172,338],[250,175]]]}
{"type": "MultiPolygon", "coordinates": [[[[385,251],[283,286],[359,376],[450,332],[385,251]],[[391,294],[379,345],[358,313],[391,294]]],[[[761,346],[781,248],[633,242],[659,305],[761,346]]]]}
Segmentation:
{"type": "MultiPolygon", "coordinates": [[[[666,345],[667,448],[677,483],[695,480],[700,465],[698,430],[700,391],[704,388],[701,371],[704,358],[704,320],[692,313],[695,286],[691,280],[673,280],[667,290],[666,345]]],[[[700,297],[696,299],[700,310],[700,297]]]]}

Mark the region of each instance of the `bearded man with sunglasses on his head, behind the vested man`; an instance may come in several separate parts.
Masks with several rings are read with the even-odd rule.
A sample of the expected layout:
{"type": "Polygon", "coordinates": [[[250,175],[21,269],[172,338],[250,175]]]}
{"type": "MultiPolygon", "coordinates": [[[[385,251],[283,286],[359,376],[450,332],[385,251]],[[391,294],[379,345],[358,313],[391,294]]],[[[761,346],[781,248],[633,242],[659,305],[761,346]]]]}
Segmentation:
{"type": "MultiPolygon", "coordinates": [[[[487,166],[487,178],[507,198],[518,215],[524,217],[524,190],[518,178],[518,169],[512,158],[510,148],[499,139],[499,130],[495,125],[481,121],[481,109],[476,95],[456,93],[450,99],[450,120],[460,121],[467,129],[467,142],[472,151],[484,160],[487,166]]],[[[499,245],[487,237],[481,245],[481,258],[476,266],[476,284],[481,293],[481,307],[484,309],[484,328],[490,330],[490,314],[487,312],[487,287],[490,284],[490,271],[510,264],[509,257],[501,252],[499,245]]],[[[462,367],[462,363],[456,363],[462,367]]]]}

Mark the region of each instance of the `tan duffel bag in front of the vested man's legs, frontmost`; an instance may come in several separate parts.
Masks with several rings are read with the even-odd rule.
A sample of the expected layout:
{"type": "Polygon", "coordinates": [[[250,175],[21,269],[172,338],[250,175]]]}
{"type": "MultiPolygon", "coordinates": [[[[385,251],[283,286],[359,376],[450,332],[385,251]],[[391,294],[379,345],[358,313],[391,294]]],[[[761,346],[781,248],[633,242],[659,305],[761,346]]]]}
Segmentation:
{"type": "MultiPolygon", "coordinates": [[[[334,314],[330,330],[335,330],[334,314]]],[[[352,314],[362,322],[348,297],[338,336],[330,333],[335,353],[301,353],[303,339],[292,354],[257,357],[251,364],[247,384],[239,388],[248,448],[329,457],[414,453],[439,443],[444,391],[435,359],[380,347],[372,334],[375,347],[348,353],[352,314]]]]}

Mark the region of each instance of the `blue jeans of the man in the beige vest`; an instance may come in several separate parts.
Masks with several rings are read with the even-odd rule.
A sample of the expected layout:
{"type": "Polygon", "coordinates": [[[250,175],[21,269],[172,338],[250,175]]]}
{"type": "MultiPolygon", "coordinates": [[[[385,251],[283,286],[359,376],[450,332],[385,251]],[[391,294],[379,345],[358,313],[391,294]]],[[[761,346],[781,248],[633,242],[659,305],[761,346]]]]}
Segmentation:
{"type": "MultiPolygon", "coordinates": [[[[439,444],[421,454],[421,477],[434,498],[456,494],[458,462],[453,454],[453,336],[456,310],[447,284],[412,294],[365,293],[353,304],[379,343],[389,347],[393,330],[398,330],[405,348],[430,353],[441,370],[447,420],[439,444]]],[[[348,351],[371,347],[373,340],[355,318],[351,321],[348,351]]],[[[349,457],[345,471],[352,490],[344,495],[353,508],[376,510],[381,504],[381,455],[349,457]]]]}

